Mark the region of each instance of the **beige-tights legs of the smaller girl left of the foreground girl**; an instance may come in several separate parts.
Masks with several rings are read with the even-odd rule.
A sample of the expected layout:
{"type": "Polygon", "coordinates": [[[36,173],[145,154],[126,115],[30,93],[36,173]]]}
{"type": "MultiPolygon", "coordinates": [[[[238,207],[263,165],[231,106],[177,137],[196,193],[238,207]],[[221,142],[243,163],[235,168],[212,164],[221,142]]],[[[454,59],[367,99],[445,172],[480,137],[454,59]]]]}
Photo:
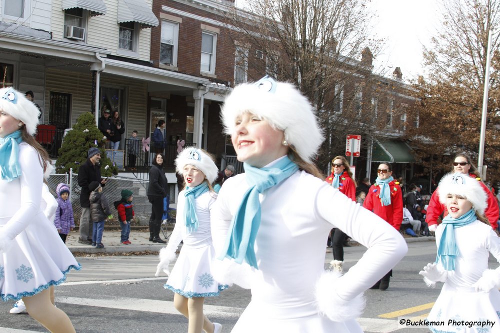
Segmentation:
{"type": "Polygon", "coordinates": [[[213,324],[203,315],[204,297],[185,298],[182,295],[173,295],[173,306],[187,318],[187,333],[213,333],[213,324]]]}

